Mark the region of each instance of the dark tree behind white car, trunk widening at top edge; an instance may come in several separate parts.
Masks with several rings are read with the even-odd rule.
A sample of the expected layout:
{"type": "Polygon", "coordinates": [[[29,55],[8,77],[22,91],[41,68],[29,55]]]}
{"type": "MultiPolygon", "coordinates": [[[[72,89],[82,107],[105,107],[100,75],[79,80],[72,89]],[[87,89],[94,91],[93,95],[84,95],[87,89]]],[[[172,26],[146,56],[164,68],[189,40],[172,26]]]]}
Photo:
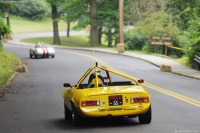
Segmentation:
{"type": "Polygon", "coordinates": [[[51,5],[51,16],[53,21],[53,44],[60,44],[58,29],[58,5],[62,0],[47,0],[51,5]]]}

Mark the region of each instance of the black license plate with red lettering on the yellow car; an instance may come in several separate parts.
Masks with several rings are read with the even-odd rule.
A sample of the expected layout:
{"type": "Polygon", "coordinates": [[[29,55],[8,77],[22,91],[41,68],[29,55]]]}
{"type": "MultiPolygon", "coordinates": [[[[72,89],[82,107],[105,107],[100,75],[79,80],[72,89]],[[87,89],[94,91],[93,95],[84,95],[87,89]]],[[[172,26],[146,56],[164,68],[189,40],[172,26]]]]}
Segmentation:
{"type": "Polygon", "coordinates": [[[108,100],[109,100],[109,106],[123,105],[122,95],[109,96],[108,100]]]}

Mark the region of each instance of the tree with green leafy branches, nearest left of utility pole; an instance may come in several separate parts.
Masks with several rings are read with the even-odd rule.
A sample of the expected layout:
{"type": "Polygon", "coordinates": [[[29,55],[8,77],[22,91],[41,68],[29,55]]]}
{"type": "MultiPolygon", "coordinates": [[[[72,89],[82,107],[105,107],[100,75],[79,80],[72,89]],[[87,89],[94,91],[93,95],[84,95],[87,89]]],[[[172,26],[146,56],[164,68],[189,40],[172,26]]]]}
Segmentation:
{"type": "Polygon", "coordinates": [[[78,21],[75,28],[85,28],[90,24],[90,44],[92,47],[98,45],[98,27],[96,25],[96,0],[70,0],[66,3],[67,21],[78,21]],[[73,5],[73,6],[72,6],[73,5]],[[67,7],[69,7],[67,9],[67,7]],[[71,10],[71,11],[70,11],[71,10]],[[89,11],[89,12],[88,12],[89,11]],[[69,14],[69,13],[72,14],[69,14]],[[89,16],[88,16],[89,13],[89,16]],[[79,17],[79,18],[78,18],[79,17]],[[89,19],[88,19],[89,18],[89,19]],[[89,20],[89,21],[88,21],[89,20]]]}

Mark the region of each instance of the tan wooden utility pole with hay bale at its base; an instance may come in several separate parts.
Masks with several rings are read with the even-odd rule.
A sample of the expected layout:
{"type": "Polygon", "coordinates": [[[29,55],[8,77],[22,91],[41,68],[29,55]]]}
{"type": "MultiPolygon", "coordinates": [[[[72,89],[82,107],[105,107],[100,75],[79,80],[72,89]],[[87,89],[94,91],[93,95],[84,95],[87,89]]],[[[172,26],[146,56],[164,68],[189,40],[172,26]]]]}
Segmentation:
{"type": "Polygon", "coordinates": [[[124,0],[119,0],[119,43],[118,53],[124,53],[124,0]]]}

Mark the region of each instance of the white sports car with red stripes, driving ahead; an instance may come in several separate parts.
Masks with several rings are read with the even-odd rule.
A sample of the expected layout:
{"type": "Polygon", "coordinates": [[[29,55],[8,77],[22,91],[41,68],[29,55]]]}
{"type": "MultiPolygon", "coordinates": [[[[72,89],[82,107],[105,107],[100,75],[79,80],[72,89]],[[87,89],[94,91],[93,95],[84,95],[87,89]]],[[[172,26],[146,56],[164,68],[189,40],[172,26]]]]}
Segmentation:
{"type": "Polygon", "coordinates": [[[37,42],[36,45],[29,50],[30,58],[49,58],[55,57],[55,49],[48,44],[37,42]]]}

